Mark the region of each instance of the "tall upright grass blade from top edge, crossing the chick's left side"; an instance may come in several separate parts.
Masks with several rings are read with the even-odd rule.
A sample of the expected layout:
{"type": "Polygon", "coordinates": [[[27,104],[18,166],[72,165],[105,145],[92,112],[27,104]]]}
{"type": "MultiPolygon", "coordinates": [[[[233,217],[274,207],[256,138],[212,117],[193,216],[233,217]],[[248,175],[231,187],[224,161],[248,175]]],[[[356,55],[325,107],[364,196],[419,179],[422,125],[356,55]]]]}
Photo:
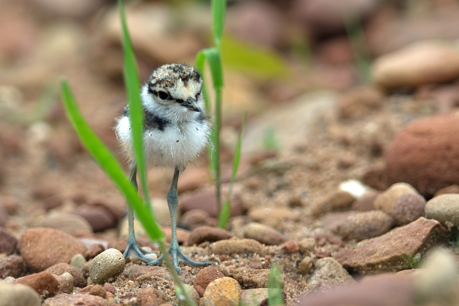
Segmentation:
{"type": "Polygon", "coordinates": [[[140,177],[140,185],[144,193],[144,198],[148,209],[153,213],[148,192],[146,179],[146,163],[143,150],[143,110],[140,102],[140,80],[135,62],[134,49],[129,38],[128,26],[126,24],[126,12],[124,11],[123,0],[118,0],[121,29],[123,33],[124,51],[124,82],[129,101],[129,119],[131,122],[131,133],[137,170],[140,177]]]}

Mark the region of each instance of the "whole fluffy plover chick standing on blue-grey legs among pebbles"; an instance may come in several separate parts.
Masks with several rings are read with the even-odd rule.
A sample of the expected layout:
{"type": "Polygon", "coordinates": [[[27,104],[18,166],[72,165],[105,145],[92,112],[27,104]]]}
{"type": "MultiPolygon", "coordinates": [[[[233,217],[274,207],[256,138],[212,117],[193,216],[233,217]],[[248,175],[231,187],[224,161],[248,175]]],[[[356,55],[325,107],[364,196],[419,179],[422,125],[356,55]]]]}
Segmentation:
{"type": "MultiPolygon", "coordinates": [[[[174,168],[174,178],[168,192],[172,239],[168,252],[172,255],[177,272],[179,260],[194,266],[208,266],[207,262],[192,261],[179,248],[176,235],[177,181],[179,173],[199,156],[208,144],[209,122],[204,115],[202,78],[194,67],[169,64],[157,68],[141,88],[144,112],[144,150],[148,167],[174,168]]],[[[132,148],[129,107],[123,110],[116,126],[117,138],[131,166],[131,182],[137,187],[137,165],[132,148]]],[[[134,214],[128,205],[129,234],[124,257],[134,254],[148,265],[162,262],[164,254],[156,260],[145,256],[135,241],[134,214]]]]}

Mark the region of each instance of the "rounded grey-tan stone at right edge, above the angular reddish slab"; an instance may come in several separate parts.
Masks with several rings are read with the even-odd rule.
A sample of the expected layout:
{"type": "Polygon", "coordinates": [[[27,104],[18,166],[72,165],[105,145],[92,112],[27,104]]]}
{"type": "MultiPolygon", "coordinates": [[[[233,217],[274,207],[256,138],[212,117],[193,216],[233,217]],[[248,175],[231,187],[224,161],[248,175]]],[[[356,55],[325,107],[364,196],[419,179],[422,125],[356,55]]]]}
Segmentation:
{"type": "Polygon", "coordinates": [[[459,225],[459,194],[442,194],[427,201],[425,217],[448,228],[459,225]]]}

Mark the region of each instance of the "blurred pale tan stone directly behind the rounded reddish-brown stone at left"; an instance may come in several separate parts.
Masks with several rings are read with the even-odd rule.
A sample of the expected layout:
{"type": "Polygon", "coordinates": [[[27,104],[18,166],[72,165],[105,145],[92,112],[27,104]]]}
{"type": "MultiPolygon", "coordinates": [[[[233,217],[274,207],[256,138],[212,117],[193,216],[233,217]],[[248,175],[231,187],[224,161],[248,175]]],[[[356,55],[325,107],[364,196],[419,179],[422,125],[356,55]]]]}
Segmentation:
{"type": "Polygon", "coordinates": [[[63,212],[49,213],[32,225],[33,227],[56,228],[72,236],[76,236],[81,231],[93,232],[91,224],[84,217],[63,212]]]}

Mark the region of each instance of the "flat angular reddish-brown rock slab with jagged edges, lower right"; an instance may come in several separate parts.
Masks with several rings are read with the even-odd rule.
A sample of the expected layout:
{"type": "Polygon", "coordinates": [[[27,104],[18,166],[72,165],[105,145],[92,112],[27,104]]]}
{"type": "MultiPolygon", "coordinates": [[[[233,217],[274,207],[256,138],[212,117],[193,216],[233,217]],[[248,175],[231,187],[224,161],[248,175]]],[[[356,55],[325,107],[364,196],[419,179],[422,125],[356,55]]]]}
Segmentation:
{"type": "Polygon", "coordinates": [[[422,255],[427,246],[447,240],[447,231],[438,221],[420,217],[379,237],[368,239],[357,249],[343,249],[334,257],[352,272],[397,272],[412,268],[417,263],[413,256],[417,253],[422,255]]]}

